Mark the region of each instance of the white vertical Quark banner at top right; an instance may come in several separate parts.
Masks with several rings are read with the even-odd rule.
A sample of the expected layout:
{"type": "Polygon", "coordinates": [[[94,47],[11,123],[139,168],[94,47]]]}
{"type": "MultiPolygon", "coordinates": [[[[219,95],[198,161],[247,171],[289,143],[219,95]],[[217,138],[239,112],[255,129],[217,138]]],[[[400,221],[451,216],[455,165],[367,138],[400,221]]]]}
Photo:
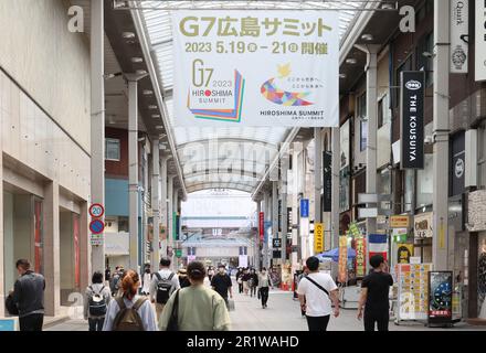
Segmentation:
{"type": "Polygon", "coordinates": [[[467,74],[469,2],[451,0],[451,73],[467,74]]]}

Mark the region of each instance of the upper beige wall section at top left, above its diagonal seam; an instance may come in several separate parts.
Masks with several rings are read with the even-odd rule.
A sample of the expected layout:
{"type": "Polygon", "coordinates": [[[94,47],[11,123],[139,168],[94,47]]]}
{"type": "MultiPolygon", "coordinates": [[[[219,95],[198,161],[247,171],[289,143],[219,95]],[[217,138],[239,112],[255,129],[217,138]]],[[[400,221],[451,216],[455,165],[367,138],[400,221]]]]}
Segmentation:
{"type": "Polygon", "coordinates": [[[89,150],[89,47],[61,0],[0,1],[0,66],[89,150]]]}

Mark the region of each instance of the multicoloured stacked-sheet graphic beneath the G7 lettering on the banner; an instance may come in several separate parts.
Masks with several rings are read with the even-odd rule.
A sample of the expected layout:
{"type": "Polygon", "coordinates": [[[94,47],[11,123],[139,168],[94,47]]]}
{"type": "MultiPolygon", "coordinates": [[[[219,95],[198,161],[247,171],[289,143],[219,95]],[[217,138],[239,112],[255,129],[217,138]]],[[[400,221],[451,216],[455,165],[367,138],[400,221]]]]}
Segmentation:
{"type": "Polygon", "coordinates": [[[235,69],[234,71],[234,107],[233,109],[191,109],[190,98],[188,94],[188,108],[198,119],[211,119],[219,121],[233,121],[240,122],[241,111],[243,107],[243,94],[245,88],[245,79],[235,69]]]}

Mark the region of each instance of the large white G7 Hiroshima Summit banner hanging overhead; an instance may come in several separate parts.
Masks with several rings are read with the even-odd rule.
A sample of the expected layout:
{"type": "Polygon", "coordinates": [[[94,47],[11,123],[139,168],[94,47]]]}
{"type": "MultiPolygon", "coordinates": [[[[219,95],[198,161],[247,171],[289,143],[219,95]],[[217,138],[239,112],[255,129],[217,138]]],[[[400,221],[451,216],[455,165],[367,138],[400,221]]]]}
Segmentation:
{"type": "Polygon", "coordinates": [[[173,11],[175,126],[337,127],[332,11],[173,11]]]}

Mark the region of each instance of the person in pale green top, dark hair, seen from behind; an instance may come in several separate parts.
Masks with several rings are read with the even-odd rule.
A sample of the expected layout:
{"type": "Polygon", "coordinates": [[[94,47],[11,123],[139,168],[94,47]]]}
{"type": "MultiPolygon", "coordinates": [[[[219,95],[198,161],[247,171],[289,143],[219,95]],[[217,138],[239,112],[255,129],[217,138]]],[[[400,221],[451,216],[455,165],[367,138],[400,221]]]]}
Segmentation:
{"type": "Polygon", "coordinates": [[[190,287],[177,290],[159,321],[161,331],[229,331],[230,314],[224,299],[204,286],[205,269],[199,261],[188,265],[190,287]]]}

